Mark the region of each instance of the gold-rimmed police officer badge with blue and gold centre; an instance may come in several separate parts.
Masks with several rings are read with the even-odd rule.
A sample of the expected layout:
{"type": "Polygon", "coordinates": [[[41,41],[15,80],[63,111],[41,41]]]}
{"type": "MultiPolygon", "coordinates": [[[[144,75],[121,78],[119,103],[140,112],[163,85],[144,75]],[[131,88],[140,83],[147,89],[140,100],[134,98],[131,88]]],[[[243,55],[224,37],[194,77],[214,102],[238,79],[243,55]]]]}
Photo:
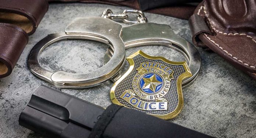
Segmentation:
{"type": "Polygon", "coordinates": [[[182,80],[192,74],[186,62],[152,57],[141,50],[127,58],[128,71],[111,88],[114,104],[172,119],[183,106],[182,80]]]}

